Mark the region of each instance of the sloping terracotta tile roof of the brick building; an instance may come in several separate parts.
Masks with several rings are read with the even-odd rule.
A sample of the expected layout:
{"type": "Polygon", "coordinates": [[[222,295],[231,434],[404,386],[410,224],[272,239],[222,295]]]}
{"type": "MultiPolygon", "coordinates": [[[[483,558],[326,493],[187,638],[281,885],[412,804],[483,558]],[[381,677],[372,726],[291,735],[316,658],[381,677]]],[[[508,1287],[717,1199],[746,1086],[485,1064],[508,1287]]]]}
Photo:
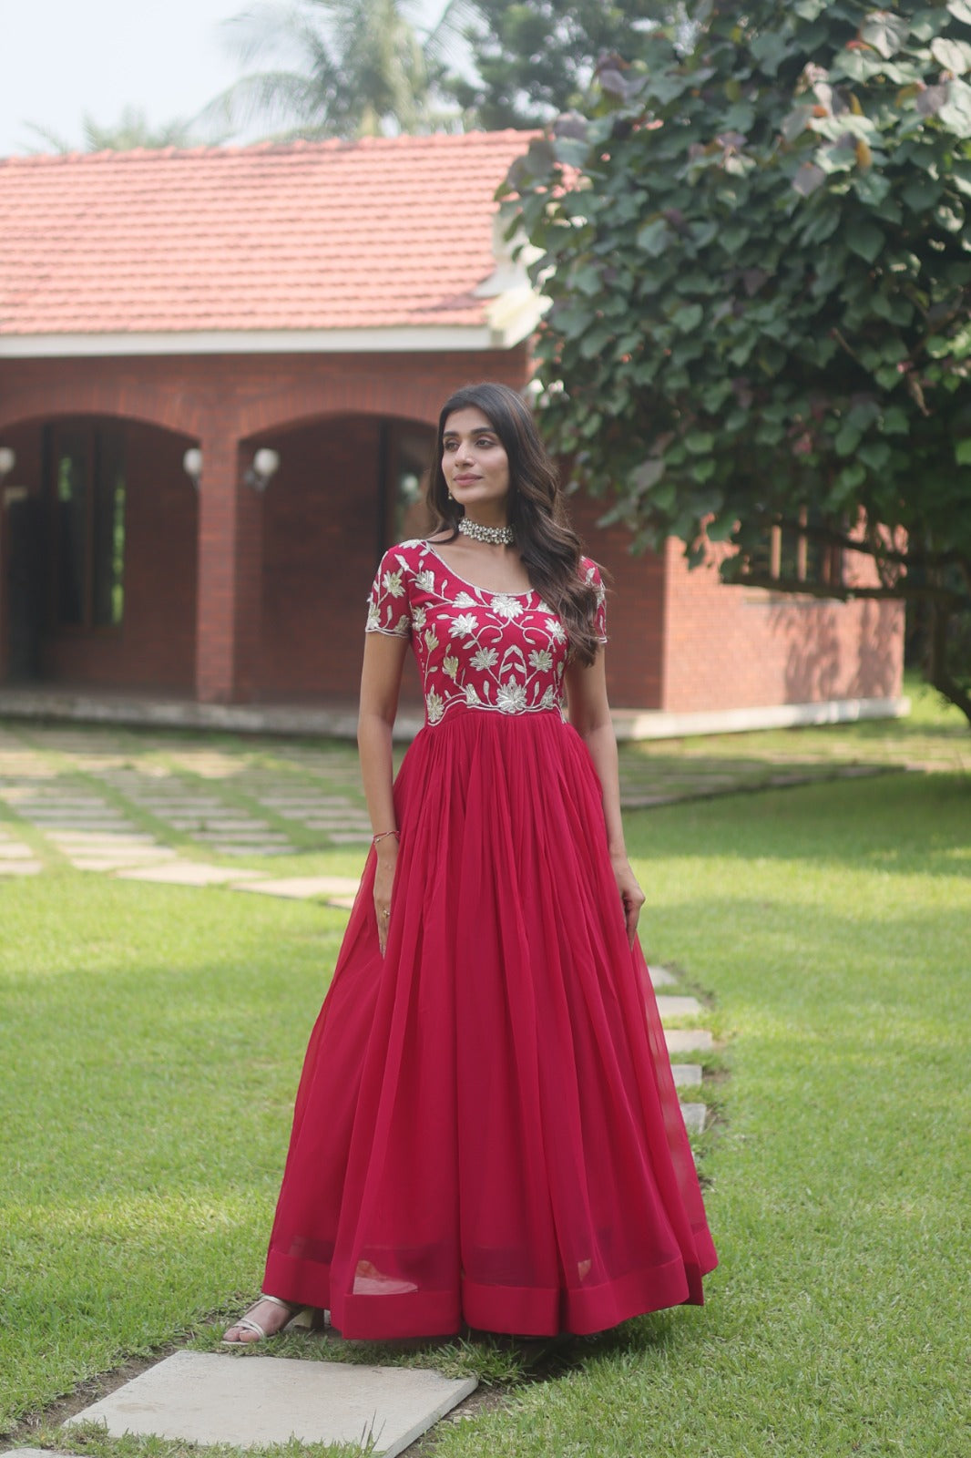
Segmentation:
{"type": "Polygon", "coordinates": [[[528,133],[0,160],[0,335],[481,325],[528,133]]]}

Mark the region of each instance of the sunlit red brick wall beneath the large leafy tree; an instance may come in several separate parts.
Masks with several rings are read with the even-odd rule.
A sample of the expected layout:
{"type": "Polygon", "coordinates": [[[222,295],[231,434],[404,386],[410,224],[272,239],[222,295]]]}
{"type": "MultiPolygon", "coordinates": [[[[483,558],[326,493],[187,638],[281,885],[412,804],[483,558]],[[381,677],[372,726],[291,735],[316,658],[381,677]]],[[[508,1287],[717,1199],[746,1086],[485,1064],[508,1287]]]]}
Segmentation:
{"type": "Polygon", "coordinates": [[[668,542],[662,707],[671,712],[900,694],[904,607],[774,596],[688,572],[668,542]]]}

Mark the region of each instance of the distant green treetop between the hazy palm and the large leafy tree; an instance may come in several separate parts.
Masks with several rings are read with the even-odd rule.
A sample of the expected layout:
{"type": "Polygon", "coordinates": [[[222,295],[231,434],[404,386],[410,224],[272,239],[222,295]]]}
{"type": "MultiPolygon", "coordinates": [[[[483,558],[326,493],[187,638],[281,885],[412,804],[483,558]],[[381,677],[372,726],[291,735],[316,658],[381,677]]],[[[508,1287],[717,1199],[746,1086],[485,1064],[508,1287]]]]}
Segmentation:
{"type": "Polygon", "coordinates": [[[579,104],[598,57],[642,55],[669,7],[658,0],[477,0],[465,31],[477,76],[452,76],[461,106],[487,128],[538,127],[579,104]]]}

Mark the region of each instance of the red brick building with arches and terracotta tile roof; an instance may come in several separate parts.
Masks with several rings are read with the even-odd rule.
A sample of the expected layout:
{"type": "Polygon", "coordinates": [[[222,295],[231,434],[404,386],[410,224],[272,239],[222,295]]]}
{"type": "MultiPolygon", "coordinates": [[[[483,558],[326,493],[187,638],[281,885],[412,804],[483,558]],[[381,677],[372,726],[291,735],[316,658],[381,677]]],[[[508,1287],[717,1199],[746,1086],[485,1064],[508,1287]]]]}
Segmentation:
{"type": "MultiPolygon", "coordinates": [[[[0,685],[353,704],[442,399],[529,376],[538,306],[493,203],[522,149],[0,160],[0,685]]],[[[642,729],[894,712],[898,605],[725,588],[675,542],[630,557],[598,510],[574,519],[642,729]]]]}

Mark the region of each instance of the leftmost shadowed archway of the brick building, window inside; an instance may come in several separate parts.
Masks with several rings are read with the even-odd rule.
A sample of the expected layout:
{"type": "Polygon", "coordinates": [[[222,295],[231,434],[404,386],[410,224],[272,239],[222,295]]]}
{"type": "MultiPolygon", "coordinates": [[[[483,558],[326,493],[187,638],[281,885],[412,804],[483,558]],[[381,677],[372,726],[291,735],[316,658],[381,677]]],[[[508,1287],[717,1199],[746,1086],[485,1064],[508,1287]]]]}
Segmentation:
{"type": "Polygon", "coordinates": [[[118,416],[3,432],[0,662],[10,684],[191,693],[198,506],[188,437],[118,416]]]}

